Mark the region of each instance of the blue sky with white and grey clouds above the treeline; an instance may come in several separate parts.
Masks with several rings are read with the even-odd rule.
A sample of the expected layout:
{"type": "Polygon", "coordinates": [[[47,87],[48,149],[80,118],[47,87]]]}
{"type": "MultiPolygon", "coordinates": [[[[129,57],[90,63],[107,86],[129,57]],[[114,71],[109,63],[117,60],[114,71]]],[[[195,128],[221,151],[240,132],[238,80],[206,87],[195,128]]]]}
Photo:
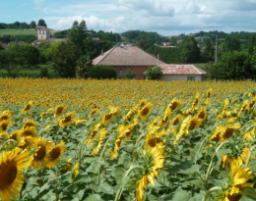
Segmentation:
{"type": "Polygon", "coordinates": [[[0,0],[0,11],[0,23],[43,19],[56,30],[85,20],[88,29],[118,33],[256,32],[256,0],[0,0]]]}

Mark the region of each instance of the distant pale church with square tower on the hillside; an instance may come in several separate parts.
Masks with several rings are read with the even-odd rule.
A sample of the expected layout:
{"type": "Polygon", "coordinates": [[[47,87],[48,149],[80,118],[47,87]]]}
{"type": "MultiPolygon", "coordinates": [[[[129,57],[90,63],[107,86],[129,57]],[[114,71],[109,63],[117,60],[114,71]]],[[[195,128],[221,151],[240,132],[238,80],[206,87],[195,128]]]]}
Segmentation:
{"type": "Polygon", "coordinates": [[[67,38],[50,38],[50,29],[45,26],[36,26],[37,29],[37,40],[32,42],[33,45],[38,45],[42,42],[67,42],[67,38]]]}

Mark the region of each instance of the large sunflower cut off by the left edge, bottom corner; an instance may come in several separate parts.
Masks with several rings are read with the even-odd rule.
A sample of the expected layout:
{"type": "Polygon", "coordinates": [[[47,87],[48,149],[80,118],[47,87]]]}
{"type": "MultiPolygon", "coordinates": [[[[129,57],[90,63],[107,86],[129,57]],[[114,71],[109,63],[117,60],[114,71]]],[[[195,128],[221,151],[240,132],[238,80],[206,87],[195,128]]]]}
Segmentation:
{"type": "Polygon", "coordinates": [[[25,176],[24,169],[28,167],[28,152],[15,148],[0,154],[0,197],[4,201],[16,200],[20,194],[25,176]]]}

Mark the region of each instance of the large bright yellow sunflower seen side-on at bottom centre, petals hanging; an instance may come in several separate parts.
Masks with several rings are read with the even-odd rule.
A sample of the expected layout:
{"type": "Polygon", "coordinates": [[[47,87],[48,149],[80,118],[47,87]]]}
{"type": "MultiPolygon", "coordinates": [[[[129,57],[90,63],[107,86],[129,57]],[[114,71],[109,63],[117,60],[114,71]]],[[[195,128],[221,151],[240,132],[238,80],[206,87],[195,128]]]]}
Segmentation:
{"type": "Polygon", "coordinates": [[[158,146],[153,149],[148,149],[144,151],[144,157],[146,160],[147,167],[144,170],[145,175],[138,180],[138,188],[136,190],[136,200],[144,201],[145,200],[145,189],[147,189],[147,184],[151,183],[155,185],[154,178],[159,176],[159,172],[163,169],[164,155],[162,150],[158,146]]]}

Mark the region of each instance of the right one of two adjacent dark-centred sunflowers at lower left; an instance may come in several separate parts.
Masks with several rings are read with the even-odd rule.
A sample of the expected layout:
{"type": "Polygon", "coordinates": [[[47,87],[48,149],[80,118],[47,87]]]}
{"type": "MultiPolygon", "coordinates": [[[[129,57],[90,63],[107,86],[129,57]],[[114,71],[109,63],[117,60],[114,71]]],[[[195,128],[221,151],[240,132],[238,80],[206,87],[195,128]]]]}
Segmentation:
{"type": "Polygon", "coordinates": [[[61,141],[56,146],[52,147],[49,153],[46,155],[47,159],[47,167],[51,169],[52,167],[56,166],[56,164],[61,159],[62,155],[66,151],[67,147],[63,146],[65,144],[64,141],[61,141]]]}

